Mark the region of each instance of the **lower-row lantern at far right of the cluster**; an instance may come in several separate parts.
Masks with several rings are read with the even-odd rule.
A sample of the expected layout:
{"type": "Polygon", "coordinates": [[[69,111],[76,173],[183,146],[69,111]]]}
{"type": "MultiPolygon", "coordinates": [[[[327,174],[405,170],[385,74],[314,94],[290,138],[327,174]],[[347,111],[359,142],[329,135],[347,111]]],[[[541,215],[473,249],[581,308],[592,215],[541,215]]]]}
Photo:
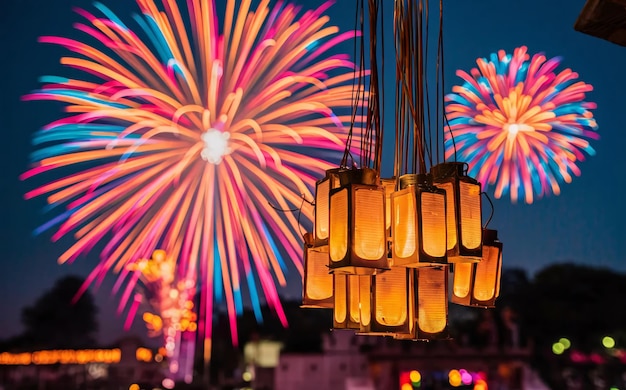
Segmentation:
{"type": "Polygon", "coordinates": [[[496,230],[483,230],[483,258],[479,263],[454,265],[451,300],[464,306],[495,307],[500,293],[502,243],[496,230]]]}

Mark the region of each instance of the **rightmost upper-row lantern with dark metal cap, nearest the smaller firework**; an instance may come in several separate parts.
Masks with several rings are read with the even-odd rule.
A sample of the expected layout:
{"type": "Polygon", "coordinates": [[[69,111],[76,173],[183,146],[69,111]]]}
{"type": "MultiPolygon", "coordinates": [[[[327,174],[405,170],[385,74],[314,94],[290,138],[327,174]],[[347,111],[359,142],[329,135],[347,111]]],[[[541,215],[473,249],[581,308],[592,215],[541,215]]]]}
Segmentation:
{"type": "Polygon", "coordinates": [[[431,170],[435,186],[446,191],[448,262],[478,262],[482,257],[480,183],[464,172],[465,163],[446,162],[431,170]]]}

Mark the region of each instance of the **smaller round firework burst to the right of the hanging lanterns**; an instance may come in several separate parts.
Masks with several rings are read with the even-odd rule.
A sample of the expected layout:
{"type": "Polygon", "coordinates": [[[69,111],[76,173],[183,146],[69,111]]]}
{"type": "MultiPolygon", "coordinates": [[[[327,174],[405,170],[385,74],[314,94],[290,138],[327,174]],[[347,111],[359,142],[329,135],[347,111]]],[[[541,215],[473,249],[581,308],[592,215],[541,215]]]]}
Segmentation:
{"type": "Polygon", "coordinates": [[[596,105],[584,101],[593,87],[571,69],[555,73],[560,62],[530,58],[523,46],[479,58],[470,74],[457,71],[464,83],[446,96],[446,157],[468,162],[497,198],[558,195],[559,183],[580,175],[577,162],[595,153],[596,105]]]}

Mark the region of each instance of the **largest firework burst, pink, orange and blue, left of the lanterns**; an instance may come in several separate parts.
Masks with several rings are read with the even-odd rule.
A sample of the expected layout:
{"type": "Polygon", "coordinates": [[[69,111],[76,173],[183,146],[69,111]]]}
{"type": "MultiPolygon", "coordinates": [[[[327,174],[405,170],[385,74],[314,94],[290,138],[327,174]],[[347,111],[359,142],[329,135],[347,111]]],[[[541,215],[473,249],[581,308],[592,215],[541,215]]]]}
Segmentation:
{"type": "Polygon", "coordinates": [[[300,221],[276,209],[311,199],[341,157],[354,65],[329,49],[354,34],[327,25],[330,2],[301,12],[229,0],[221,32],[214,1],[137,2],[137,33],[97,3],[100,16],[78,10],[87,23],[76,24],[94,46],[41,38],[74,53],[61,63],[78,76],[44,77],[26,97],[66,103],[68,115],[34,136],[23,178],[75,173],[26,197],[66,206],[39,229],[60,225],[54,240],[74,233],[60,263],[106,243],[88,282],[119,272],[121,306],[140,277],[128,265],[163,249],[180,279],[197,280],[206,337],[214,299],[225,298],[237,342],[242,291],[258,316],[264,300],[286,323],[277,284],[288,262],[302,272],[300,228],[312,210],[300,221]]]}

